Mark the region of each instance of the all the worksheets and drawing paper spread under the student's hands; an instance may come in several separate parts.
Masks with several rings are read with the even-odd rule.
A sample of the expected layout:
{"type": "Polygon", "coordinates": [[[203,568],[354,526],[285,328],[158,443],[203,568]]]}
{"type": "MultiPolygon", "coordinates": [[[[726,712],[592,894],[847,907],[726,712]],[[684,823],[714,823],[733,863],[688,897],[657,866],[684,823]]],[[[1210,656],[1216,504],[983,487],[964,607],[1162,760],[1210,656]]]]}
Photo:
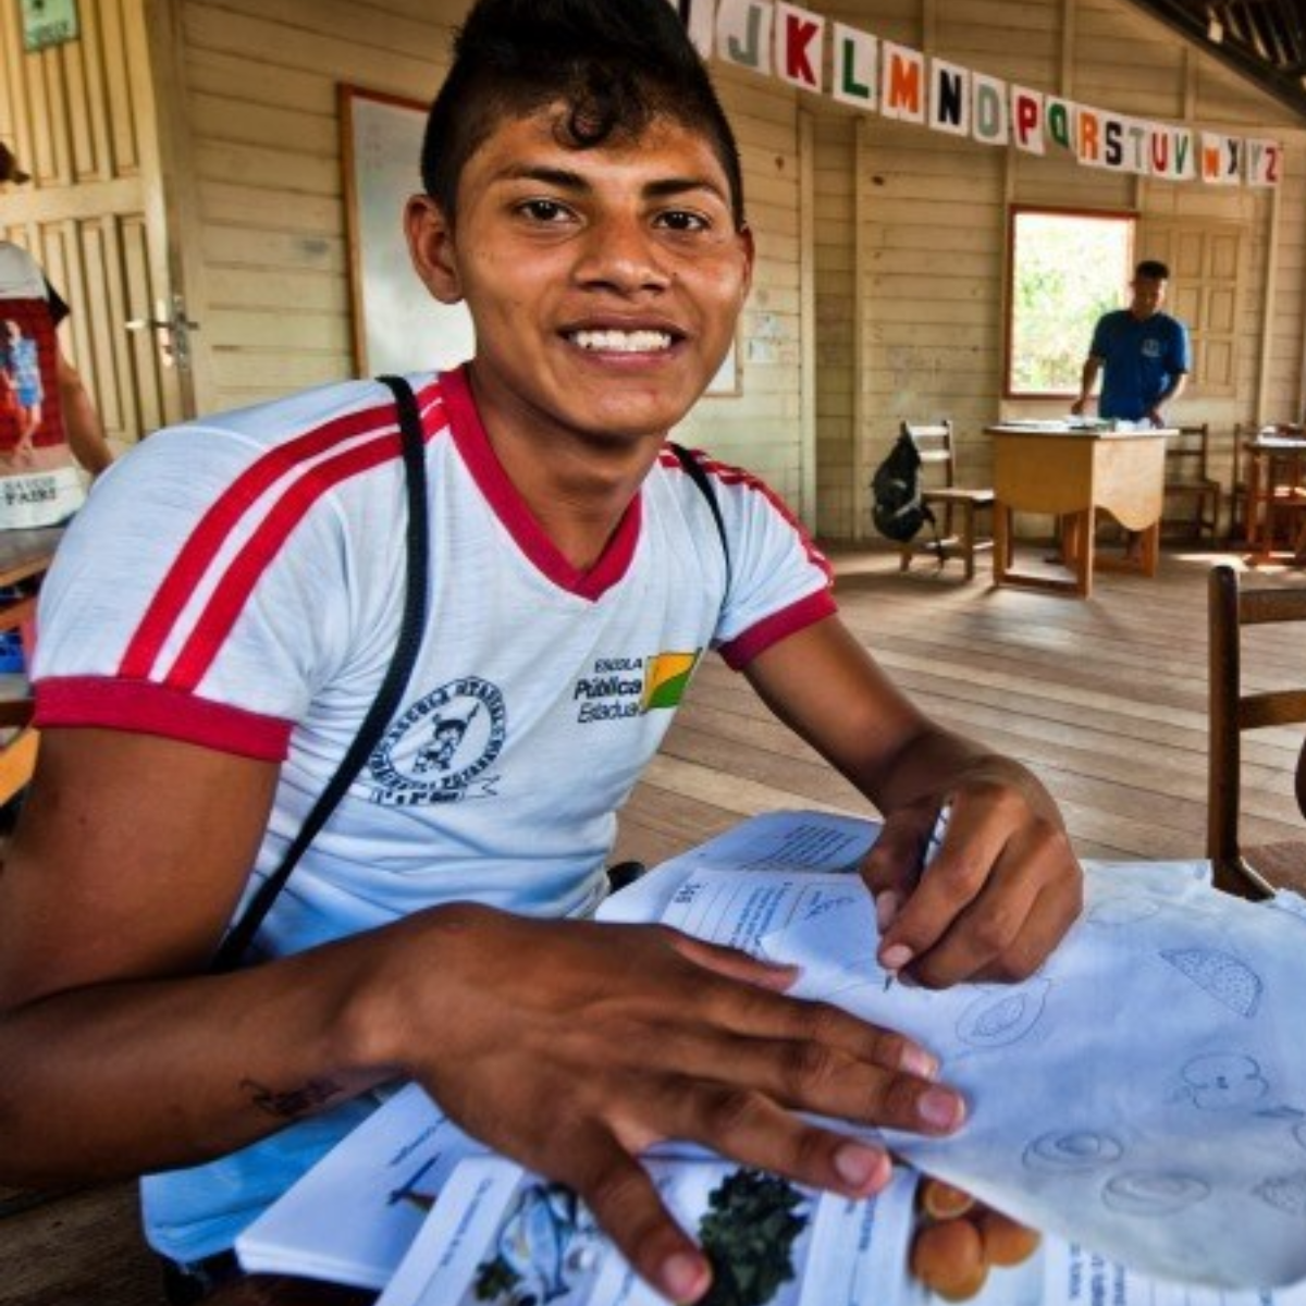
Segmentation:
{"type": "MultiPolygon", "coordinates": [[[[1217,895],[1205,863],[1093,865],[1083,919],[1029,981],[885,991],[874,912],[850,874],[875,833],[823,814],[756,818],[601,916],[662,919],[795,961],[801,996],[940,1054],[969,1122],[948,1140],[892,1135],[895,1149],[1050,1232],[1034,1259],[990,1279],[977,1306],[1306,1306],[1302,901],[1217,895]]],[[[648,1165],[709,1242],[725,1229],[735,1246],[730,1229],[759,1209],[773,1221],[757,1273],[774,1306],[930,1299],[905,1269],[905,1168],[878,1200],[850,1203],[693,1149],[663,1148],[648,1165]]],[[[255,1269],[388,1284],[383,1306],[658,1301],[565,1190],[478,1149],[417,1088],[306,1175],[238,1251],[255,1269]]]]}

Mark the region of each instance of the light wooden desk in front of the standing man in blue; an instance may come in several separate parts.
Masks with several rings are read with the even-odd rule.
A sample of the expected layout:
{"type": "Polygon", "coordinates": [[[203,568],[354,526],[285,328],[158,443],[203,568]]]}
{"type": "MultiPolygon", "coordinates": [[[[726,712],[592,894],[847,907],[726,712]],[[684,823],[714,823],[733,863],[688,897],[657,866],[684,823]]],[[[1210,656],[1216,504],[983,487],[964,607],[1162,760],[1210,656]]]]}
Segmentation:
{"type": "Polygon", "coordinates": [[[985,427],[994,440],[995,585],[1027,585],[1087,598],[1094,565],[1127,567],[1156,575],[1165,502],[1165,438],[1170,427],[1144,431],[1094,431],[1063,424],[985,427]],[[1094,559],[1093,520],[1105,508],[1128,530],[1143,535],[1135,567],[1094,559]],[[1012,521],[1016,512],[1064,517],[1071,576],[1043,576],[1012,567],[1012,521]]]}

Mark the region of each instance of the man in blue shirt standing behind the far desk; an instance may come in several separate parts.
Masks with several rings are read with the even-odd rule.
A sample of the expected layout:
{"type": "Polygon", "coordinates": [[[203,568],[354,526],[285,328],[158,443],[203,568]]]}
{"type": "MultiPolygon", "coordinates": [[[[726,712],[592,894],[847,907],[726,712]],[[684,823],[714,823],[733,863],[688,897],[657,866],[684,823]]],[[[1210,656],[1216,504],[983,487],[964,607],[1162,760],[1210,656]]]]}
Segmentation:
{"type": "Polygon", "coordinates": [[[1161,311],[1169,279],[1170,269],[1155,259],[1134,269],[1130,307],[1097,320],[1071,413],[1084,411],[1102,372],[1098,417],[1165,426],[1162,410],[1183,393],[1192,366],[1188,328],[1161,311]]]}

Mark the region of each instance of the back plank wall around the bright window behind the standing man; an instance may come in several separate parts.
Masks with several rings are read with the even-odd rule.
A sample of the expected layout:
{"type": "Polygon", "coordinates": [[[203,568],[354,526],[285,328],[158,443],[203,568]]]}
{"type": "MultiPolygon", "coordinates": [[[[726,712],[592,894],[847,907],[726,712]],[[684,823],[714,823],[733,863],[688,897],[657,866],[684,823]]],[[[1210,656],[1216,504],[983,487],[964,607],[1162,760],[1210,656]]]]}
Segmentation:
{"type": "MultiPolygon", "coordinates": [[[[821,8],[882,38],[1034,89],[1199,131],[1264,135],[1289,149],[1288,179],[1276,199],[1245,187],[1113,175],[876,115],[862,116],[863,144],[849,157],[846,124],[831,115],[821,124],[819,150],[831,168],[849,157],[865,230],[858,264],[854,234],[840,229],[837,215],[818,225],[820,357],[852,350],[854,326],[863,343],[852,375],[831,368],[818,379],[823,535],[868,533],[865,491],[855,491],[901,418],[953,418],[961,475],[980,483],[990,470],[982,434],[987,422],[999,414],[1064,415],[1060,401],[1000,398],[1012,202],[1134,210],[1143,226],[1151,217],[1241,229],[1237,393],[1203,394],[1198,380],[1173,413],[1212,424],[1215,470],[1226,486],[1234,475],[1235,423],[1299,417],[1306,394],[1306,132],[1285,110],[1121,0],[842,0],[821,8]],[[841,274],[850,265],[858,268],[861,296],[852,319],[841,274]],[[849,462],[846,424],[858,388],[862,424],[853,432],[849,462]],[[827,464],[827,454],[835,461],[827,464]]],[[[836,193],[833,202],[845,201],[836,193]]]]}

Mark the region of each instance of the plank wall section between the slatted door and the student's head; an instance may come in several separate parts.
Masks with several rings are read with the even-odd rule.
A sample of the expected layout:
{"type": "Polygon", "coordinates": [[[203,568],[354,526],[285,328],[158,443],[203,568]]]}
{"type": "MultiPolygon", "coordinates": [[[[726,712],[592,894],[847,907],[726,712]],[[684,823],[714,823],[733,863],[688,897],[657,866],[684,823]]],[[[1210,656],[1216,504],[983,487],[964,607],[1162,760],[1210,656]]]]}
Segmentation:
{"type": "Polygon", "coordinates": [[[201,411],[353,375],[337,82],[428,99],[448,39],[439,7],[380,8],[180,4],[201,411]]]}

